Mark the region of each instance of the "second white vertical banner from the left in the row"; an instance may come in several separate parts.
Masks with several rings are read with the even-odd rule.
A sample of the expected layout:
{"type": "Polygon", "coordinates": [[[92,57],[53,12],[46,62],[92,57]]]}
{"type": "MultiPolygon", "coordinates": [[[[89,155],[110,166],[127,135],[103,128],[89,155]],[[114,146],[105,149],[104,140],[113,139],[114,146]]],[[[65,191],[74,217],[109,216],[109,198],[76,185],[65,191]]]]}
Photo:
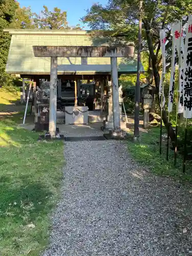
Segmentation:
{"type": "Polygon", "coordinates": [[[176,40],[173,37],[172,42],[172,68],[170,71],[170,83],[168,91],[168,112],[172,112],[175,90],[175,65],[176,65],[176,40]]]}

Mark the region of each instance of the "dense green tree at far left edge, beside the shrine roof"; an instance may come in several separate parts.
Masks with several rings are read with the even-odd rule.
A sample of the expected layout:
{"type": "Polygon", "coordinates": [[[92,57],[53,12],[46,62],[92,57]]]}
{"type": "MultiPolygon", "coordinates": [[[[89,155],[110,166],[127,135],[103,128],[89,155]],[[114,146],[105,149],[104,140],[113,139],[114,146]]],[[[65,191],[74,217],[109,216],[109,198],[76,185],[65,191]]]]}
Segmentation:
{"type": "Polygon", "coordinates": [[[3,30],[8,28],[15,16],[18,3],[14,0],[0,0],[0,83],[4,83],[5,67],[10,46],[10,35],[3,30]]]}

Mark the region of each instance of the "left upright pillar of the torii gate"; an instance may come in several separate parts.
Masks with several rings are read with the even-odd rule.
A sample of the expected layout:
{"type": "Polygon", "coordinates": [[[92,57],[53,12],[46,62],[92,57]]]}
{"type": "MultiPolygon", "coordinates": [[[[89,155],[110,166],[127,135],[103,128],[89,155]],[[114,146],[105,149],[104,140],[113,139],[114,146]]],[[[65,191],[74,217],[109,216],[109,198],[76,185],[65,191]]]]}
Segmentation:
{"type": "Polygon", "coordinates": [[[49,132],[55,138],[57,121],[57,57],[51,57],[50,101],[49,101],[49,132]]]}

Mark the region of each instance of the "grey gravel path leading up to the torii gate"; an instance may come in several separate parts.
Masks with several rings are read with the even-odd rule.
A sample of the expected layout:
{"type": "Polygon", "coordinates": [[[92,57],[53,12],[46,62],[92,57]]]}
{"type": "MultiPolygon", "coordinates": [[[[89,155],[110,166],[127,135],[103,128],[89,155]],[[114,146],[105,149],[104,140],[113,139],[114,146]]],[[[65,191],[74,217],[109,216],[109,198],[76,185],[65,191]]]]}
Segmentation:
{"type": "Polygon", "coordinates": [[[192,255],[191,195],[137,166],[120,141],[67,142],[44,256],[192,255]]]}

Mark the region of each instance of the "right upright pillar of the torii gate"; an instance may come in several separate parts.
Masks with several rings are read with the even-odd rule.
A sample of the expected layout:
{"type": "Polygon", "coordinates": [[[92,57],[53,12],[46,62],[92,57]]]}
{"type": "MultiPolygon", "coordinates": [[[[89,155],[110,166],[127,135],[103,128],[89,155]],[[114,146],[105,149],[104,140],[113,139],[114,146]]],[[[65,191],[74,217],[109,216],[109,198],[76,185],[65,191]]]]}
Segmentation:
{"type": "Polygon", "coordinates": [[[112,99],[113,99],[113,124],[114,131],[120,132],[120,113],[119,113],[119,86],[118,86],[118,70],[117,57],[111,57],[112,70],[112,99]]]}

